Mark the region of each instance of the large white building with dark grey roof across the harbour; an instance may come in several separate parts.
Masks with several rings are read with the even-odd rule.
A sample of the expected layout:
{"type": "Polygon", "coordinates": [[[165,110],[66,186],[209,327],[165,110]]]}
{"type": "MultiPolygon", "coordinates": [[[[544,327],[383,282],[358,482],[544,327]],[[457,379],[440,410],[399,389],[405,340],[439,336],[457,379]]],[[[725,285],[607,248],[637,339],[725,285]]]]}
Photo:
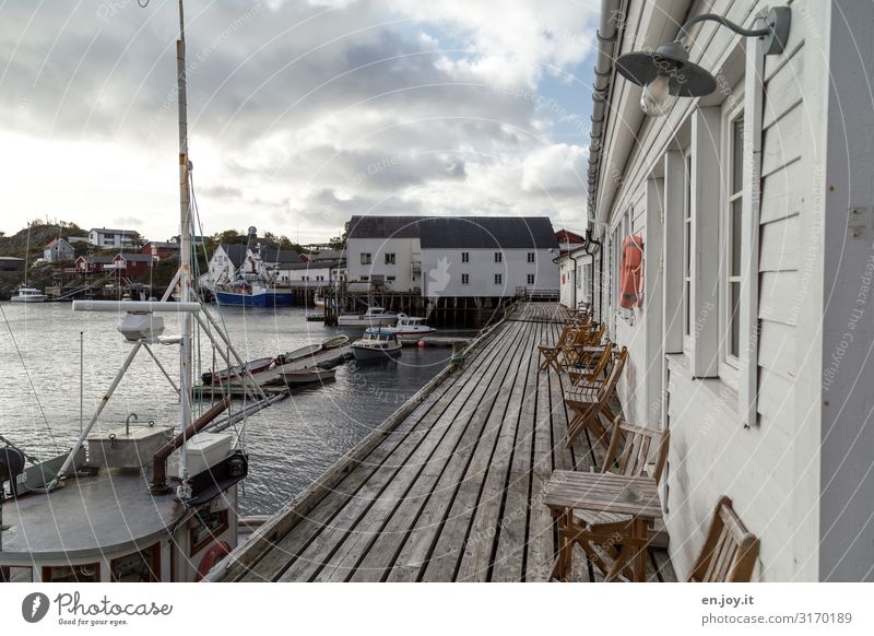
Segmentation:
{"type": "Polygon", "coordinates": [[[558,291],[558,242],[545,216],[353,216],[352,282],[424,297],[558,291]]]}

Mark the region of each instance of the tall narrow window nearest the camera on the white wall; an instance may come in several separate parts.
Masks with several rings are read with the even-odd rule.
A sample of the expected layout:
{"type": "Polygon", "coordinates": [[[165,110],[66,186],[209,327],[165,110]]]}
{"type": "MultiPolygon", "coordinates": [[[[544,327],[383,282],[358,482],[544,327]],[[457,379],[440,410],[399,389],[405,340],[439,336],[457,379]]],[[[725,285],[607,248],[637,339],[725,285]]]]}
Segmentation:
{"type": "Polygon", "coordinates": [[[725,219],[725,354],[741,355],[741,219],[744,191],[744,116],[741,111],[729,122],[728,217],[725,219]]]}

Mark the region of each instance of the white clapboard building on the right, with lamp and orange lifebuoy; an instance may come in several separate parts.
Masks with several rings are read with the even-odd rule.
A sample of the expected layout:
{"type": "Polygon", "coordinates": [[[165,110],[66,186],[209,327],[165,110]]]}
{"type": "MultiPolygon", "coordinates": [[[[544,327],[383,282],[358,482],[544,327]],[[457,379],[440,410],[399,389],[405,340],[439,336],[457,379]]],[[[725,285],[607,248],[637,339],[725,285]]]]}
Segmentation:
{"type": "Polygon", "coordinates": [[[786,49],[713,22],[687,39],[714,93],[645,116],[616,58],[754,0],[605,0],[589,222],[595,317],[630,350],[625,416],[671,429],[662,503],[678,576],[717,498],[760,539],[761,580],[874,579],[874,4],[794,0],[786,49]],[[603,106],[598,103],[602,101],[603,106]],[[624,237],[642,306],[617,306],[624,237]],[[600,249],[599,249],[600,247],[600,249]]]}

